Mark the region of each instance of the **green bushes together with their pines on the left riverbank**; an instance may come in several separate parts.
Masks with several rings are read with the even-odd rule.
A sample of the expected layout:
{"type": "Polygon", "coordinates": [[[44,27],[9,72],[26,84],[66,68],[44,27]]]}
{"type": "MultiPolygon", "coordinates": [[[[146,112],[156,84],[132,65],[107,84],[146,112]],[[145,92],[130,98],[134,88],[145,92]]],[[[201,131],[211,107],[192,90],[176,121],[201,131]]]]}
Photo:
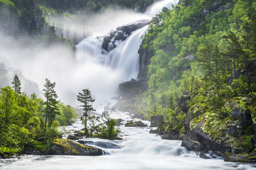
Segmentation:
{"type": "Polygon", "coordinates": [[[55,118],[57,110],[65,115],[66,122],[75,118],[74,111],[70,106],[58,104],[55,83],[47,79],[46,101],[35,94],[29,97],[21,93],[17,75],[12,83],[14,90],[9,86],[0,90],[0,156],[21,153],[31,145],[46,151],[51,141],[63,133],[55,118]]]}

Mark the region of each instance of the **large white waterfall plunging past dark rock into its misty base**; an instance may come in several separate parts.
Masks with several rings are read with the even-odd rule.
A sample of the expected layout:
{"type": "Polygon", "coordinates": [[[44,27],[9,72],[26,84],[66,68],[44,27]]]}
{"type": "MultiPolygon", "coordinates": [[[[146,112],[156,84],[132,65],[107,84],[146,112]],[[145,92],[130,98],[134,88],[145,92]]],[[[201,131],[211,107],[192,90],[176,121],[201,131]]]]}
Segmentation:
{"type": "MultiPolygon", "coordinates": [[[[127,21],[129,22],[127,22],[127,25],[131,24],[131,21],[136,24],[139,20],[143,22],[142,19],[150,19],[159,13],[163,7],[171,7],[172,4],[177,2],[176,0],[164,0],[155,3],[145,13],[128,18],[127,21]]],[[[116,21],[113,22],[117,23],[116,21]]],[[[123,23],[123,20],[120,23],[123,23]]],[[[87,80],[85,87],[90,88],[93,94],[98,93],[99,96],[96,96],[96,98],[102,98],[100,94],[106,91],[112,92],[107,95],[116,95],[119,83],[129,81],[131,78],[137,78],[139,70],[138,49],[142,43],[142,36],[144,36],[147,29],[148,25],[142,26],[140,29],[135,29],[135,31],[129,35],[117,29],[117,31],[114,32],[116,34],[115,36],[123,34],[125,40],[116,40],[116,38],[109,36],[111,34],[113,35],[111,30],[108,31],[109,35],[105,36],[95,32],[93,36],[83,39],[76,45],[76,62],[80,67],[88,67],[88,63],[89,65],[93,65],[94,69],[104,67],[107,69],[108,75],[112,76],[111,79],[108,79],[108,75],[103,73],[105,72],[104,69],[101,69],[102,72],[91,73],[93,74],[93,76],[91,76],[93,80],[87,80]],[[107,47],[103,47],[104,38],[106,38],[106,36],[110,37],[107,41],[110,42],[106,44],[107,47]],[[104,74],[104,76],[97,74],[104,74]],[[96,84],[95,79],[99,80],[96,84]],[[90,83],[91,81],[92,83],[90,83]],[[103,85],[102,83],[107,83],[107,85],[104,86],[105,84],[103,85]]]]}

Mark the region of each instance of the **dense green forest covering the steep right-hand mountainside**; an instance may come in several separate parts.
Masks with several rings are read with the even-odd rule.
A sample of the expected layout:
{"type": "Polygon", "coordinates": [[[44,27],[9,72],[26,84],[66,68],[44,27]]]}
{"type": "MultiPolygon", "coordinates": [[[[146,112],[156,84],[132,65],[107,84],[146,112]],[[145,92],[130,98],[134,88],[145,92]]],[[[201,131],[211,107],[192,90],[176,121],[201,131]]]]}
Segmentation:
{"type": "MultiPolygon", "coordinates": [[[[137,108],[147,118],[164,115],[168,128],[184,132],[186,113],[175,108],[186,93],[194,117],[190,129],[204,119],[203,131],[219,141],[228,135],[222,133],[227,122],[239,120],[231,115],[235,109],[255,123],[256,2],[220,1],[216,9],[214,2],[180,1],[153,18],[142,43],[152,54],[148,89],[137,108]]],[[[230,143],[252,150],[251,123],[243,136],[229,136],[230,143]]]]}

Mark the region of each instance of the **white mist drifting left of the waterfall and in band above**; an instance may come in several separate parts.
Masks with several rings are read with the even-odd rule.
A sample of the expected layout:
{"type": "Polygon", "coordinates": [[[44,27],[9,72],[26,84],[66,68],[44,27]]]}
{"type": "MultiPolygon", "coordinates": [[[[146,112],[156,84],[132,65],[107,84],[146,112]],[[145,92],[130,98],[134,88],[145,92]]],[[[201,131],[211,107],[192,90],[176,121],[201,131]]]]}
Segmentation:
{"type": "MultiPolygon", "coordinates": [[[[105,35],[125,23],[148,18],[130,10],[111,9],[100,15],[90,16],[91,24],[59,20],[61,27],[72,32],[82,32],[87,25],[87,32],[93,35],[105,35]],[[92,19],[92,17],[95,17],[92,19]],[[108,22],[110,21],[111,22],[108,22]],[[80,24],[80,26],[79,26],[80,24]],[[82,26],[81,26],[82,25],[82,26]]],[[[75,21],[80,18],[76,17],[75,21]]],[[[118,84],[122,82],[119,70],[101,65],[88,54],[81,54],[65,45],[45,45],[34,39],[27,39],[29,43],[17,40],[14,37],[0,34],[0,60],[7,66],[20,70],[21,74],[36,82],[39,89],[44,88],[45,78],[56,82],[56,91],[65,104],[76,106],[76,94],[82,89],[89,89],[97,101],[107,100],[117,95],[118,84]],[[87,56],[84,56],[87,55],[87,56]],[[83,62],[79,58],[84,58],[83,62]]],[[[9,84],[10,85],[10,84],[9,84]]]]}

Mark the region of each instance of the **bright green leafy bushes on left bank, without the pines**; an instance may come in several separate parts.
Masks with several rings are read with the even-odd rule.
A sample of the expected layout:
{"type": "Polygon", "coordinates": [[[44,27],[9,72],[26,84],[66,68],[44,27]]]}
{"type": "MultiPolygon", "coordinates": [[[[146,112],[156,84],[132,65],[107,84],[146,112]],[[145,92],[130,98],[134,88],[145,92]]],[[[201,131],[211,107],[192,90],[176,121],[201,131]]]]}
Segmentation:
{"type": "MultiPolygon", "coordinates": [[[[42,99],[29,98],[7,86],[0,90],[0,154],[13,155],[21,152],[37,138],[60,136],[59,123],[54,120],[44,133],[42,99]]],[[[46,144],[46,143],[44,143],[46,144]]]]}

